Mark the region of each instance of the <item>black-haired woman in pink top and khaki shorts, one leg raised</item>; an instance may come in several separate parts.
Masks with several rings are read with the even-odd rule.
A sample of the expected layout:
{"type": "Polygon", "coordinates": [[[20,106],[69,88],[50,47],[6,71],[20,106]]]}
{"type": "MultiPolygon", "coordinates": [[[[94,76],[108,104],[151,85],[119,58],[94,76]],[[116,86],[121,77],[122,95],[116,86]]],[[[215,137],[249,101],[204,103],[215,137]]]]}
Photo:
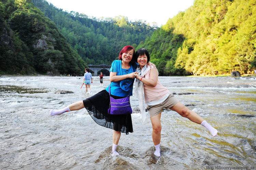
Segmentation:
{"type": "Polygon", "coordinates": [[[154,67],[147,67],[146,64],[150,60],[150,55],[145,48],[140,48],[135,53],[135,59],[139,64],[136,72],[137,79],[135,82],[135,96],[139,98],[140,110],[142,112],[142,120],[145,120],[145,108],[142,106],[144,101],[150,114],[153,127],[152,138],[156,148],[154,154],[160,156],[160,139],[161,139],[161,112],[163,108],[171,109],[179,113],[182,117],[188,118],[190,121],[198,123],[206,127],[213,136],[217,135],[217,130],[208,124],[194,111],[189,110],[170,91],[162,86],[158,80],[158,71],[154,67]]]}

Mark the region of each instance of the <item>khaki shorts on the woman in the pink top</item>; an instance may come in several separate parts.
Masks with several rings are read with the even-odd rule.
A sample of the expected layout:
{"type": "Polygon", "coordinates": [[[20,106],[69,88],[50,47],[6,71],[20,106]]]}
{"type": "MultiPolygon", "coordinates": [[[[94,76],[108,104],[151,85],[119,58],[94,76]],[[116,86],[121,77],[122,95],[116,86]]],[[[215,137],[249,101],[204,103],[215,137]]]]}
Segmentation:
{"type": "Polygon", "coordinates": [[[163,108],[170,109],[172,106],[176,105],[178,102],[179,100],[172,93],[170,93],[167,99],[165,99],[165,101],[157,105],[147,106],[147,110],[150,113],[150,117],[153,117],[163,112],[163,108]]]}

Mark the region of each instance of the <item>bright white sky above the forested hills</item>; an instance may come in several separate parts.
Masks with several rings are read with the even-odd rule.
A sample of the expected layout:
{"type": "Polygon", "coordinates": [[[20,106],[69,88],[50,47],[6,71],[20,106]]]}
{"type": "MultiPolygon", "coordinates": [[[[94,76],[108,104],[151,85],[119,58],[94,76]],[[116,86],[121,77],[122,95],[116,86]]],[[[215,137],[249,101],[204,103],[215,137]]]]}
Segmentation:
{"type": "Polygon", "coordinates": [[[84,13],[96,18],[126,16],[129,21],[143,20],[165,25],[169,18],[185,11],[194,0],[46,0],[63,11],[84,13]]]}

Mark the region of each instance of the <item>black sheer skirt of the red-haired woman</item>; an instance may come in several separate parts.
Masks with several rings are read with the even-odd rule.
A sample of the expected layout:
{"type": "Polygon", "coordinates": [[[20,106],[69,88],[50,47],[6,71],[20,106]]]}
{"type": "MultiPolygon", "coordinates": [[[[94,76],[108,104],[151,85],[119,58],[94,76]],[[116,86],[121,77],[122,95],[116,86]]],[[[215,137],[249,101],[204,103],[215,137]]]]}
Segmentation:
{"type": "MultiPolygon", "coordinates": [[[[113,95],[111,95],[111,97],[115,99],[123,98],[113,95]]],[[[102,90],[99,93],[83,100],[83,103],[91,118],[93,118],[97,124],[126,133],[126,135],[128,135],[129,132],[133,132],[131,114],[108,114],[110,97],[106,90],[102,90]]]]}

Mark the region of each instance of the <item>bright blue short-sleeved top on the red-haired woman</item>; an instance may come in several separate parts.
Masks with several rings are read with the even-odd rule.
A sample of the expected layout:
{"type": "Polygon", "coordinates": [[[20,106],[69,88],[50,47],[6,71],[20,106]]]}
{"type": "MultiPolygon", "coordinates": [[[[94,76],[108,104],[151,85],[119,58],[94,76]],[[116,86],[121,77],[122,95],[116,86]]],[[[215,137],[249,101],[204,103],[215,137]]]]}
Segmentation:
{"type": "MultiPolygon", "coordinates": [[[[121,60],[114,60],[110,72],[116,72],[118,76],[120,75],[125,75],[125,74],[130,74],[135,72],[136,67],[138,63],[134,63],[131,65],[129,69],[123,69],[121,66],[122,61],[121,60]]],[[[133,85],[134,78],[126,78],[121,81],[116,81],[116,82],[111,82],[111,94],[114,96],[119,96],[119,97],[126,97],[128,95],[132,95],[132,85],[133,85]]],[[[109,92],[109,86],[106,88],[106,91],[109,92]]]]}

